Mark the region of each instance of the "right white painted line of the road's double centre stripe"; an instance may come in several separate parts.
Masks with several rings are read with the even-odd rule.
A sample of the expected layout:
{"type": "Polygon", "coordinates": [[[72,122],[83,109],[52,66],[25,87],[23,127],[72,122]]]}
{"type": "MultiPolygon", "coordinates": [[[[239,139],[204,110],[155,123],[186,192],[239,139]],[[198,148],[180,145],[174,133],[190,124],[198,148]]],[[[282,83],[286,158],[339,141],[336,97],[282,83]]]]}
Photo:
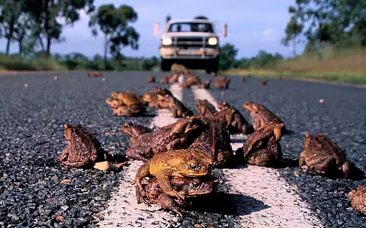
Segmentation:
{"type": "MultiPolygon", "coordinates": [[[[207,99],[213,105],[217,102],[206,89],[192,88],[196,99],[207,99]]],[[[245,140],[244,135],[231,136],[231,139],[245,140]]],[[[243,143],[231,143],[233,150],[243,143]]],[[[253,197],[270,208],[253,208],[242,205],[245,215],[240,215],[243,227],[323,227],[309,205],[272,168],[251,166],[239,169],[223,169],[225,178],[231,185],[229,193],[253,197]]],[[[238,205],[240,207],[240,205],[238,205]]]]}

